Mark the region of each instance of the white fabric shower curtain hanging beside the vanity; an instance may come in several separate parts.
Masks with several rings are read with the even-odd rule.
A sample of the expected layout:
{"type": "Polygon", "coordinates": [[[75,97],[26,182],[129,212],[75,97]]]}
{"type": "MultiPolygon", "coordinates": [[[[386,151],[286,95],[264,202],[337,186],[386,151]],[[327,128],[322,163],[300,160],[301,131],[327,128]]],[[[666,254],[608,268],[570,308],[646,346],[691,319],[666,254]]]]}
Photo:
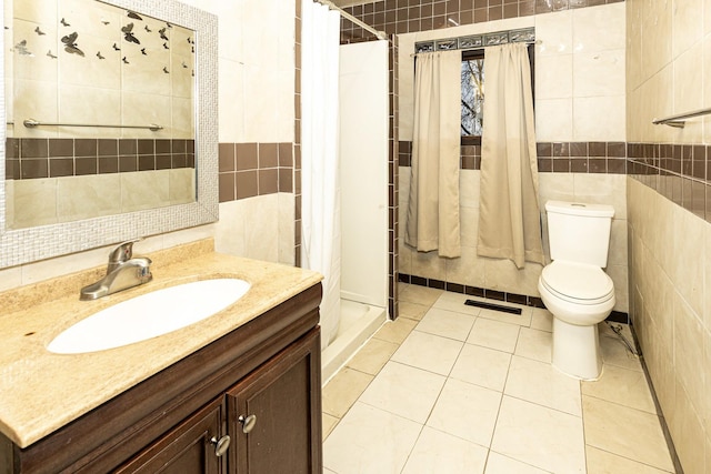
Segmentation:
{"type": "Polygon", "coordinates": [[[301,265],[323,274],[323,349],[336,336],[340,319],[340,16],[313,0],[301,4],[301,265]]]}

